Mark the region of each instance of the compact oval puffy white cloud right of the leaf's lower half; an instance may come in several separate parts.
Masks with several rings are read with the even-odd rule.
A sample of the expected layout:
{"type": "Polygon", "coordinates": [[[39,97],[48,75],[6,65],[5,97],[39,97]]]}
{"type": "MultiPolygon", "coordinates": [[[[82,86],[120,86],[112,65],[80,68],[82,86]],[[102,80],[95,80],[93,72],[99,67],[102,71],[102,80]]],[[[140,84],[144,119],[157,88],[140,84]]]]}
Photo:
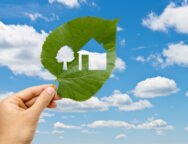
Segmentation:
{"type": "Polygon", "coordinates": [[[133,93],[140,98],[154,98],[174,94],[178,91],[174,80],[158,76],[139,82],[133,93]]]}

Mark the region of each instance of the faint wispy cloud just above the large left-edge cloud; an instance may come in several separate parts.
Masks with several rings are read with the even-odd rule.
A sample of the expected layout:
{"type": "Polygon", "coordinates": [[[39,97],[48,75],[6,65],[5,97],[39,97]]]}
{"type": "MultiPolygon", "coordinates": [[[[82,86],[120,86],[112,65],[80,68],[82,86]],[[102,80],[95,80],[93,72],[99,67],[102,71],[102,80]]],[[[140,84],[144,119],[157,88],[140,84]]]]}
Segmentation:
{"type": "Polygon", "coordinates": [[[35,12],[35,13],[28,13],[28,12],[25,12],[24,13],[25,16],[29,17],[31,19],[31,21],[35,21],[37,19],[43,19],[47,22],[50,22],[50,21],[54,21],[54,20],[59,20],[59,17],[57,15],[55,15],[54,13],[51,13],[51,16],[48,18],[48,17],[45,17],[43,16],[41,13],[38,13],[38,12],[35,12]]]}

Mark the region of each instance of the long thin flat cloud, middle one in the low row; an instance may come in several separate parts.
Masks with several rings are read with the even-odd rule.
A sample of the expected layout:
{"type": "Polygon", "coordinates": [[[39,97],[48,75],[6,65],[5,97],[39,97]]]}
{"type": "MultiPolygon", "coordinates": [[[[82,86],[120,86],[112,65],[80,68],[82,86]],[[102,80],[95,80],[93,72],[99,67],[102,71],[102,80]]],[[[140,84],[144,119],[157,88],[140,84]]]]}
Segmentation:
{"type": "Polygon", "coordinates": [[[113,120],[108,120],[108,121],[94,121],[91,124],[87,125],[89,128],[101,128],[101,127],[120,127],[120,128],[125,128],[125,129],[131,129],[135,128],[134,125],[129,124],[124,121],[113,121],[113,120]]]}

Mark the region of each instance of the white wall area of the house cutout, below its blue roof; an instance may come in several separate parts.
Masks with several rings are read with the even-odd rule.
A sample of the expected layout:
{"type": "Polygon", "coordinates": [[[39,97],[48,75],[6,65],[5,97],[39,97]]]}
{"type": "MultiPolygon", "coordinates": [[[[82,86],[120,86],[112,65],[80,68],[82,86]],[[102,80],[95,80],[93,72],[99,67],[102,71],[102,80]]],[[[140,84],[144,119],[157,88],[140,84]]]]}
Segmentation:
{"type": "MultiPolygon", "coordinates": [[[[99,45],[97,42],[95,43],[99,45]]],[[[79,70],[82,70],[82,55],[88,55],[88,60],[89,60],[88,69],[89,70],[106,70],[107,69],[106,68],[107,67],[107,54],[106,53],[97,53],[97,52],[81,50],[78,52],[78,54],[79,54],[79,70]]]]}

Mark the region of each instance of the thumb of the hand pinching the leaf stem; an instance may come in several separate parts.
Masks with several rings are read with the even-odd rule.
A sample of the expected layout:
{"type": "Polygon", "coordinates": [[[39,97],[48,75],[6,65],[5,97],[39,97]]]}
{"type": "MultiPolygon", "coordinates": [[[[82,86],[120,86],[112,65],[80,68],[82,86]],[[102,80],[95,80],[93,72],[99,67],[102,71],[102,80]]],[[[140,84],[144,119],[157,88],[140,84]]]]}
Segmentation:
{"type": "Polygon", "coordinates": [[[34,113],[37,113],[38,115],[41,114],[41,112],[49,105],[49,103],[52,101],[56,94],[56,91],[53,87],[46,88],[40,96],[37,98],[36,102],[31,107],[31,110],[33,110],[34,113]]]}

